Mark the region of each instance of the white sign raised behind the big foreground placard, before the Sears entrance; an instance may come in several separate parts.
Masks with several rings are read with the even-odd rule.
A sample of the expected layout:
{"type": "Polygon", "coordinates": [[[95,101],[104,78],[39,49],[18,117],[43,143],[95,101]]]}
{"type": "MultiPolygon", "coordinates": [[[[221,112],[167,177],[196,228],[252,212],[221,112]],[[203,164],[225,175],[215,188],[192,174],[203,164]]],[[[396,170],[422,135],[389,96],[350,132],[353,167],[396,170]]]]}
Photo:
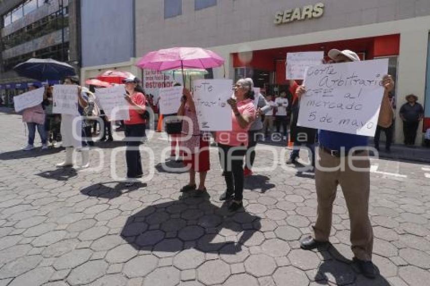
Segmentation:
{"type": "Polygon", "coordinates": [[[287,53],[286,79],[304,79],[306,69],[321,65],[323,59],[324,52],[287,53]]]}

